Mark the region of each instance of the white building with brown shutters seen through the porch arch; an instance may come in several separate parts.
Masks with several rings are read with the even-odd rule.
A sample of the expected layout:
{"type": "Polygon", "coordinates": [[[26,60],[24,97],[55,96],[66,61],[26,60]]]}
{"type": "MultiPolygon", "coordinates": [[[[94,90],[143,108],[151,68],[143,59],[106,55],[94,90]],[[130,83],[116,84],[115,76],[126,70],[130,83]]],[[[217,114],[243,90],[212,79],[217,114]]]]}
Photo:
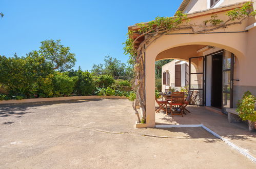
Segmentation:
{"type": "Polygon", "coordinates": [[[174,59],[162,66],[162,92],[165,89],[174,88],[180,90],[181,87],[188,86],[188,62],[174,59]]]}

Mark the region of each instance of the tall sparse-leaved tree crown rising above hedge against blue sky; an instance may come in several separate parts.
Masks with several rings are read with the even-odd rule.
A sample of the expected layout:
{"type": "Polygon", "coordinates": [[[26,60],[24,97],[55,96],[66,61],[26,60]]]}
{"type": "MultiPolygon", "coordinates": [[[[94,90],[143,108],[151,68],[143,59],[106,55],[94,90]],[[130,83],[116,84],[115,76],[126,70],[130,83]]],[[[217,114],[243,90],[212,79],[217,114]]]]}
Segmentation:
{"type": "Polygon", "coordinates": [[[41,44],[38,53],[51,62],[53,70],[66,71],[75,65],[75,54],[70,53],[69,47],[61,45],[61,40],[45,40],[41,44]]]}

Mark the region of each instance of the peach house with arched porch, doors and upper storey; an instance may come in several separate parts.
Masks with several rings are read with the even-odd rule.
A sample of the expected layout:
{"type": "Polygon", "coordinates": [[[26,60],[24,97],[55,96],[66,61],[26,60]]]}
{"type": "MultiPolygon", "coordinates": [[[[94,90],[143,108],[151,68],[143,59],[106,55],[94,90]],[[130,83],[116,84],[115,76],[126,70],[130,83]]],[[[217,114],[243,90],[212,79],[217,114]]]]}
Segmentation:
{"type": "MultiPolygon", "coordinates": [[[[188,86],[189,90],[199,93],[199,105],[219,107],[223,113],[227,113],[228,108],[236,107],[245,91],[256,95],[255,16],[218,29],[205,28],[203,25],[216,15],[218,19],[228,20],[227,11],[241,8],[247,2],[251,1],[184,0],[178,10],[188,13],[192,26],[201,26],[174,30],[148,43],[142,53],[145,57],[145,126],[155,126],[156,60],[179,59],[189,63],[188,86]],[[202,32],[194,33],[198,30],[202,32]],[[194,69],[191,69],[192,66],[194,69]]],[[[256,1],[252,2],[255,10],[256,1]]],[[[137,29],[140,27],[136,25],[128,27],[128,30],[137,29]]],[[[136,45],[139,46],[144,39],[137,39],[136,45]]]]}

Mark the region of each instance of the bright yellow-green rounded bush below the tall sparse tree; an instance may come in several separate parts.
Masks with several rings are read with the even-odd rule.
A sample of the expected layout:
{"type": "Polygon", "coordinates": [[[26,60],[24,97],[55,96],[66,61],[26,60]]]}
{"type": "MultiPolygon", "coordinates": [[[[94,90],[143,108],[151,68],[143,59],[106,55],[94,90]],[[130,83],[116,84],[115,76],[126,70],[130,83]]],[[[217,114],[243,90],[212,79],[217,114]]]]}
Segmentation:
{"type": "Polygon", "coordinates": [[[57,72],[53,77],[54,92],[58,95],[68,96],[74,90],[77,77],[68,77],[68,75],[57,72]]]}

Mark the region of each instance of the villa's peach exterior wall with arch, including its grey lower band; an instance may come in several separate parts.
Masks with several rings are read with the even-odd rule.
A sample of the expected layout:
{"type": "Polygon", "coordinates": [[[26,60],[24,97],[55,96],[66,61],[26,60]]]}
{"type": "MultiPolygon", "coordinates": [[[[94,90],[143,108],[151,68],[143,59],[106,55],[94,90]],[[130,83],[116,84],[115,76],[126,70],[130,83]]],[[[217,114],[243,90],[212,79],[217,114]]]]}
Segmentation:
{"type": "MultiPolygon", "coordinates": [[[[253,1],[255,2],[255,0],[253,1]]],[[[201,1],[197,2],[199,3],[201,1]]],[[[234,4],[240,1],[229,2],[230,4],[234,4]]],[[[223,3],[223,5],[227,4],[223,3]]],[[[232,6],[232,8],[237,8],[241,6],[242,4],[234,5],[232,6]]],[[[190,24],[201,25],[204,20],[210,18],[213,12],[216,13],[220,19],[227,20],[228,16],[226,16],[226,11],[228,10],[228,8],[230,7],[212,9],[210,12],[206,11],[201,12],[200,14],[190,14],[188,15],[188,17],[191,18],[190,24]]],[[[256,9],[256,3],[253,4],[253,8],[256,9]]],[[[196,10],[199,10],[199,8],[196,10]]],[[[202,46],[214,46],[215,48],[224,49],[235,55],[234,79],[239,79],[239,81],[234,81],[234,106],[236,105],[237,100],[241,99],[245,91],[250,90],[254,95],[256,95],[256,27],[253,27],[248,32],[243,32],[246,30],[246,27],[254,23],[256,23],[256,19],[255,17],[252,17],[250,19],[244,20],[242,24],[232,25],[228,28],[214,30],[212,32],[216,33],[209,34],[189,34],[192,33],[191,30],[173,31],[171,32],[172,34],[163,35],[160,38],[156,39],[152,44],[147,46],[145,52],[145,126],[155,126],[154,62],[156,60],[168,58],[188,60],[190,57],[203,56],[203,53],[196,52],[196,46],[198,48],[201,48],[202,46]]]]}

